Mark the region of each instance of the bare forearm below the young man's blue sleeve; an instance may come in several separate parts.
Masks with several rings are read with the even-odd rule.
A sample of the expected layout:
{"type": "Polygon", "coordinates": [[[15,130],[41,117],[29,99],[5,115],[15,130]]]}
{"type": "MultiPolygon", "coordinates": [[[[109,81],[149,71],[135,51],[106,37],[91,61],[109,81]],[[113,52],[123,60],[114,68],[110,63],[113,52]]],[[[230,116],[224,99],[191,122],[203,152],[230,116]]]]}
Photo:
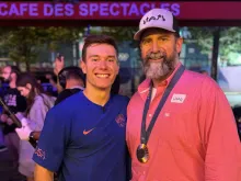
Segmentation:
{"type": "Polygon", "coordinates": [[[34,171],[34,181],[54,181],[54,172],[36,163],[34,171]]]}

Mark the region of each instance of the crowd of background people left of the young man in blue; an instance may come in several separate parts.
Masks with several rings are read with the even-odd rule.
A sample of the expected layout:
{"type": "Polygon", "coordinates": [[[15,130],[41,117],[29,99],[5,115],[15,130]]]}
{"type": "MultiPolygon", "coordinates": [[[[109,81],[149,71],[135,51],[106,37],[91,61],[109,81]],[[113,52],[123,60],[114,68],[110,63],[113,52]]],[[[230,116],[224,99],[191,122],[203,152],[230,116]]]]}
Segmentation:
{"type": "MultiPolygon", "coordinates": [[[[57,79],[54,80],[54,76],[46,75],[49,80],[48,86],[50,83],[51,89],[44,90],[44,84],[34,73],[21,72],[15,66],[5,66],[1,69],[3,80],[1,99],[18,118],[25,117],[30,121],[31,124],[28,125],[32,131],[42,131],[47,111],[54,104],[60,103],[84,87],[81,69],[78,67],[64,68],[64,57],[56,58],[54,75],[60,77],[60,83],[57,86],[57,79]],[[68,72],[65,72],[65,70],[68,72]],[[58,92],[61,93],[58,94],[58,92]]],[[[13,121],[3,109],[1,109],[0,124],[1,180],[33,180],[35,163],[32,156],[34,148],[28,142],[19,138],[20,135],[15,133],[16,127],[13,121]]]]}

